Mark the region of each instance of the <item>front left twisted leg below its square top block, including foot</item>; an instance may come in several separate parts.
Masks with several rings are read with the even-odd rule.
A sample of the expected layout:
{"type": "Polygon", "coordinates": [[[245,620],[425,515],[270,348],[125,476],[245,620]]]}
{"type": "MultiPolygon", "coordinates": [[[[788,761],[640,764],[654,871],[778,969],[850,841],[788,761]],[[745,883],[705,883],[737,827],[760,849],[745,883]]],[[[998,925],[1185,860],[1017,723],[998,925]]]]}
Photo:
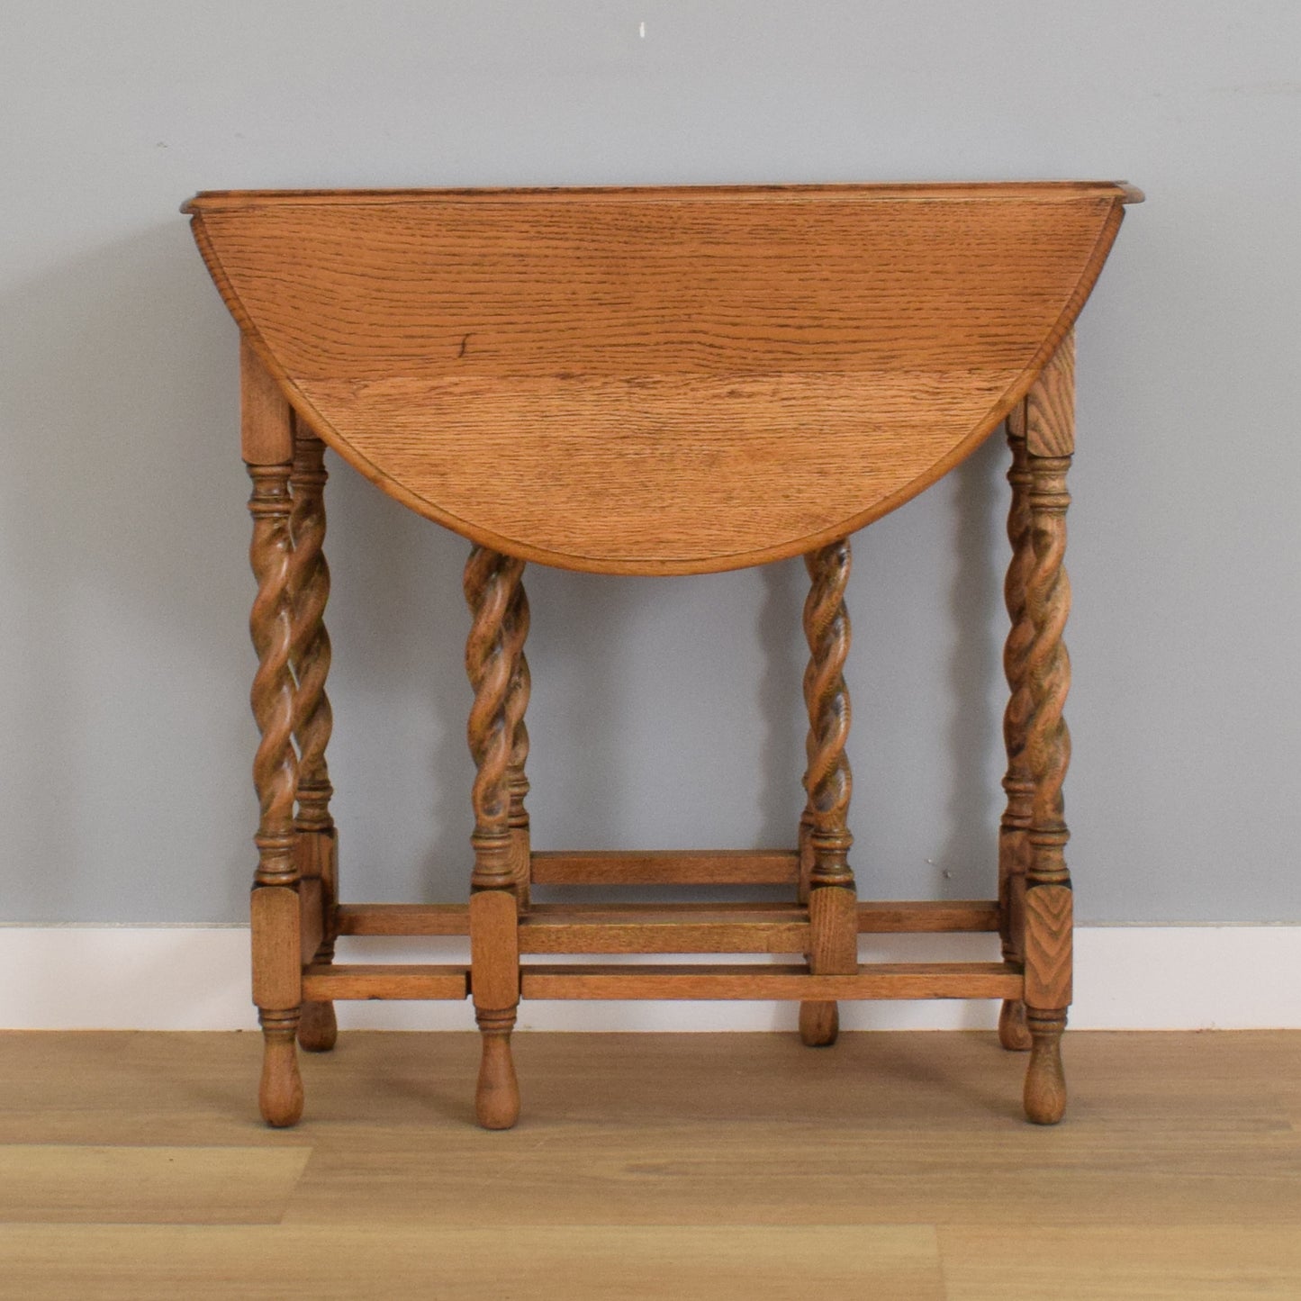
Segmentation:
{"type": "Polygon", "coordinates": [[[294,678],[290,670],[293,610],[289,595],[289,466],[250,466],[254,520],[250,561],[258,595],[248,619],[258,673],[251,704],[262,740],[254,758],[260,817],[258,870],[251,896],[254,1002],[263,1026],[259,1102],[268,1124],[291,1125],[302,1115],[303,1085],[294,1036],[302,1002],[298,863],[294,842],[294,678]]]}

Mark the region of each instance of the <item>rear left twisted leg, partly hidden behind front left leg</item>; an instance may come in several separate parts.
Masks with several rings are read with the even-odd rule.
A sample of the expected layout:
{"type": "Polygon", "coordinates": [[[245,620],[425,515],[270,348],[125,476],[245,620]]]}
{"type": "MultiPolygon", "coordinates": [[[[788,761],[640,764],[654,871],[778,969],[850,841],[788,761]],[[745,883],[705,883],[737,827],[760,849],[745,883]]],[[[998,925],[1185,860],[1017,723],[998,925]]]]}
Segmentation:
{"type": "MultiPolygon", "coordinates": [[[[298,866],[303,883],[317,882],[312,905],[319,907],[321,941],[312,961],[334,959],[338,904],[338,842],[329,800],[334,794],[325,764],[334,721],[325,679],[330,647],[325,631],[329,566],[325,563],[325,446],[301,422],[294,422],[294,468],[290,475],[293,507],[289,516],[293,553],[289,588],[294,628],[289,662],[297,682],[294,739],[298,742],[298,816],[294,820],[298,866]],[[319,903],[317,903],[319,900],[319,903]]],[[[301,886],[302,889],[302,886],[301,886]]],[[[298,1042],[308,1053],[334,1047],[338,1024],[333,1003],[303,1003],[298,1042]]]]}

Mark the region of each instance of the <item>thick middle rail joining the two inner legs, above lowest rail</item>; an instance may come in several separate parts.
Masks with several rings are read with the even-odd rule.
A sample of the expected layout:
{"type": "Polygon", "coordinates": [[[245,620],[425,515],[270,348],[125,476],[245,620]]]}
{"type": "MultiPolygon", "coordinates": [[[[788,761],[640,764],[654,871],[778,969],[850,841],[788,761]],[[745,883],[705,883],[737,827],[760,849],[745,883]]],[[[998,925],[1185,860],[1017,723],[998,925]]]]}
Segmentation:
{"type": "Polygon", "coordinates": [[[535,904],[522,954],[803,954],[808,909],[790,904],[535,904]]]}

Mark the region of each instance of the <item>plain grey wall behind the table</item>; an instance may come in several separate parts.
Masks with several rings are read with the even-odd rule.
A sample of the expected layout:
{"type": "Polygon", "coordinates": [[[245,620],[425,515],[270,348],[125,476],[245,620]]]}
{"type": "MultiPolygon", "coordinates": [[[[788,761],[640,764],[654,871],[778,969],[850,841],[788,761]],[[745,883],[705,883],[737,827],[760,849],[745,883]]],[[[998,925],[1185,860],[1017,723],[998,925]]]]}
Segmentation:
{"type": "MultiPolygon", "coordinates": [[[[5,920],[245,911],[235,330],[194,190],[1127,177],[1079,330],[1080,911],[1301,921],[1291,0],[10,0],[0,124],[5,920]]],[[[464,544],[337,468],[349,894],[454,899],[464,544]]],[[[1000,471],[995,441],[856,544],[865,894],[989,890],[1000,471]]],[[[798,563],[531,592],[540,844],[791,839],[798,563]]]]}

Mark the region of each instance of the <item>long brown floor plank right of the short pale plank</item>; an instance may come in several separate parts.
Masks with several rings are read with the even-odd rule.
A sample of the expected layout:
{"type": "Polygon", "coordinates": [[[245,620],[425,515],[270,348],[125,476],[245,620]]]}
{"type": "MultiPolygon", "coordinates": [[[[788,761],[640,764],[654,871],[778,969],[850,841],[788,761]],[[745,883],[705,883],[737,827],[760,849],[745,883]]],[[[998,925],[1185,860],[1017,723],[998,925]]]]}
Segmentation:
{"type": "MultiPolygon", "coordinates": [[[[286,1222],[319,1223],[340,1197],[375,1224],[1170,1223],[1301,1224],[1301,1141],[1291,1131],[1196,1149],[1060,1134],[1008,1140],[935,1128],[742,1124],[520,1127],[515,1145],[448,1134],[427,1146],[317,1145],[286,1222]],[[554,1189],[566,1190],[557,1198],[554,1189]],[[1197,1197],[1189,1197],[1197,1189],[1197,1197]]],[[[490,1137],[490,1136],[489,1136],[490,1137]]]]}

